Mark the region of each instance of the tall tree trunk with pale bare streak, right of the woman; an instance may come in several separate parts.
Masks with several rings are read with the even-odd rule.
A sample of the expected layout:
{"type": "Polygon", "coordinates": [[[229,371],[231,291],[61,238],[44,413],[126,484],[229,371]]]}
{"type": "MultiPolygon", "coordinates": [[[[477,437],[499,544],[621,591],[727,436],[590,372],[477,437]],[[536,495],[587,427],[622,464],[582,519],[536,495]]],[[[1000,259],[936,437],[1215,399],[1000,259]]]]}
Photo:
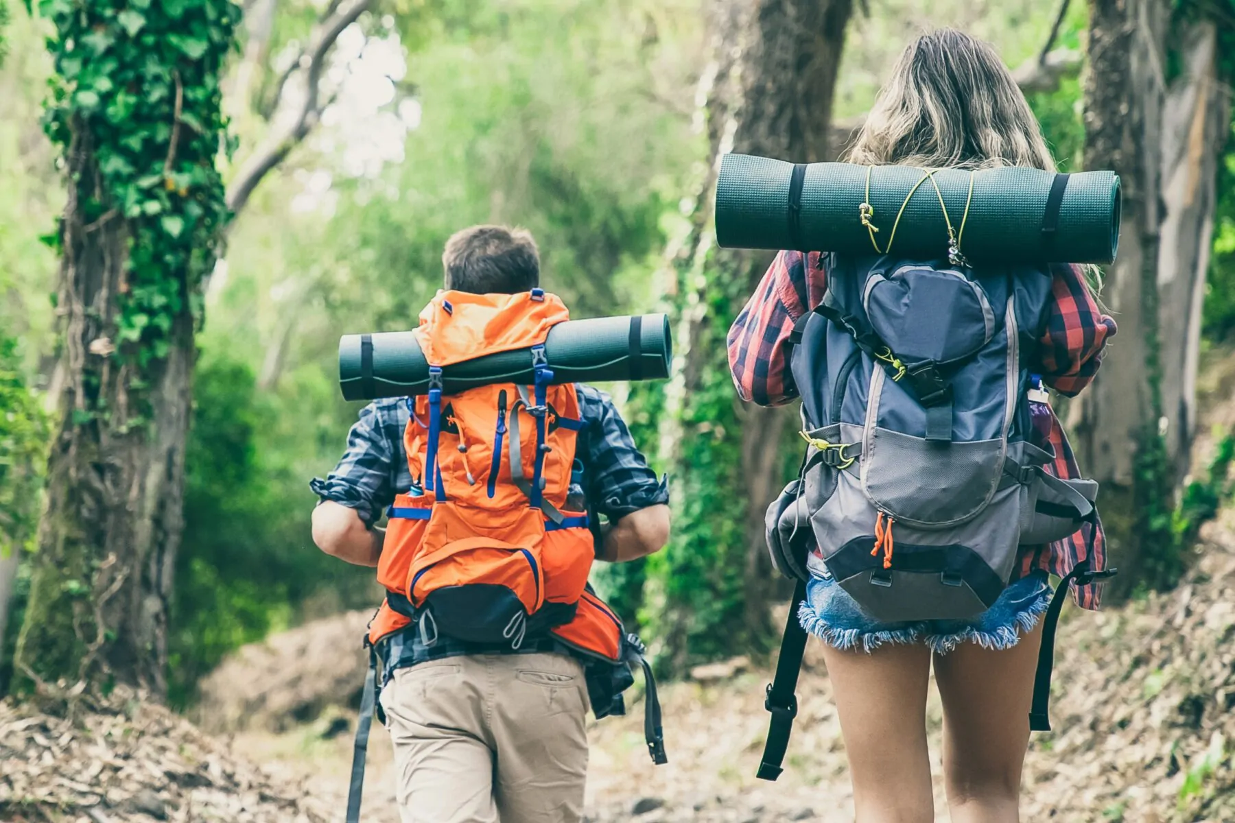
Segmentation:
{"type": "Polygon", "coordinates": [[[1200,302],[1229,110],[1213,23],[1178,25],[1163,0],[1093,0],[1084,165],[1123,181],[1119,257],[1104,299],[1119,336],[1073,406],[1082,466],[1102,482],[1115,592],[1171,585],[1178,481],[1195,424],[1200,302]],[[1168,78],[1168,48],[1183,70],[1168,78]]]}

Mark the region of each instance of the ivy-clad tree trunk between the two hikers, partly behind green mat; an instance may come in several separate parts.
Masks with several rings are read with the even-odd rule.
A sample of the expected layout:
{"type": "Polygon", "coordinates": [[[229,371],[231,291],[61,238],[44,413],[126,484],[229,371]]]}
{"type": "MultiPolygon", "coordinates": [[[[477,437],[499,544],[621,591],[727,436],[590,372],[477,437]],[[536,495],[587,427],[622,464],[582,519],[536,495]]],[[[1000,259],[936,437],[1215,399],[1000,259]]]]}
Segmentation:
{"type": "Polygon", "coordinates": [[[679,668],[688,655],[767,648],[777,581],[763,544],[763,510],[784,481],[793,416],[734,400],[725,336],[771,255],[715,248],[716,170],[729,152],[829,158],[851,7],[851,0],[716,0],[710,9],[713,60],[703,90],[711,162],[694,231],[676,262],[678,365],[661,417],[680,536],[657,582],[666,608],[661,635],[679,668]]]}

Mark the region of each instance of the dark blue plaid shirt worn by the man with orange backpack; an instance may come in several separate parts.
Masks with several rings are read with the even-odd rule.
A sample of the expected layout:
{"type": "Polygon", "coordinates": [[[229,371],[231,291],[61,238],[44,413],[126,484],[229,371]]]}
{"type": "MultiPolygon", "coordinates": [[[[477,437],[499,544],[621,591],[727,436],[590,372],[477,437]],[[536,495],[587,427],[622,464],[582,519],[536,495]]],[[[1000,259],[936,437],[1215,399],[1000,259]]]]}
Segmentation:
{"type": "MultiPolygon", "coordinates": [[[[582,492],[595,511],[610,521],[640,508],[667,503],[667,480],[658,479],[648,468],[613,399],[583,384],[576,385],[576,391],[579,413],[587,422],[582,440],[587,444],[587,453],[578,457],[584,464],[588,487],[572,491],[582,492]]],[[[394,502],[395,495],[415,486],[403,444],[408,420],[408,405],[401,397],[377,400],[362,408],[359,420],[348,432],[343,458],[325,480],[314,478],[310,487],[322,500],[354,508],[366,526],[373,526],[387,506],[394,502]]],[[[505,645],[466,643],[446,635],[426,645],[415,626],[383,640],[382,645],[383,682],[395,669],[426,660],[510,651],[505,645]]],[[[551,638],[529,640],[520,648],[520,653],[531,651],[568,653],[551,638]]]]}

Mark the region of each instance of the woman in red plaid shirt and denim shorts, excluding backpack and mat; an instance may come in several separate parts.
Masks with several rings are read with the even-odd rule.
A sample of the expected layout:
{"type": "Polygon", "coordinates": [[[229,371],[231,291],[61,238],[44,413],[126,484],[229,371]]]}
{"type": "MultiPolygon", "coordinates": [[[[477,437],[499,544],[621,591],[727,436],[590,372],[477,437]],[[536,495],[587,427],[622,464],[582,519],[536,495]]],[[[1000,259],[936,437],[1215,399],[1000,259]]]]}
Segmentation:
{"type": "MultiPolygon", "coordinates": [[[[867,167],[981,172],[1018,165],[1056,170],[1037,121],[999,57],[986,43],[951,30],[924,35],[904,51],[846,159],[867,167]]],[[[879,228],[879,218],[885,221],[882,234],[889,233],[892,218],[876,215],[872,237],[879,228]]],[[[966,265],[960,254],[952,263],[966,265]]],[[[946,269],[948,262],[937,265],[946,269]]],[[[1047,386],[1074,396],[1093,379],[1103,347],[1115,333],[1115,323],[1099,310],[1078,267],[1039,268],[1041,305],[1032,308],[1037,312],[1034,315],[1039,318],[1037,327],[1019,326],[1020,345],[1032,345],[1035,341],[1036,345],[1021,357],[1029,357],[1028,371],[1041,375],[1047,386]]],[[[840,287],[842,275],[855,269],[861,269],[861,262],[842,255],[788,250],[777,255],[729,334],[730,365],[743,400],[776,406],[818,391],[795,385],[790,369],[795,326],[824,301],[830,279],[835,278],[834,285],[840,287]]],[[[1030,269],[1026,262],[1015,270],[1030,269]]],[[[967,270],[973,280],[989,274],[982,268],[967,270]]],[[[1011,284],[1011,275],[1008,283],[1011,284]]],[[[1010,285],[1008,291],[1013,291],[1010,285]]],[[[829,334],[832,333],[829,327],[829,334]]],[[[1015,328],[1009,337],[1018,337],[1015,328]]],[[[1009,342],[1008,347],[1016,352],[1015,343],[1009,342]]],[[[794,369],[797,365],[794,360],[794,369]]],[[[866,368],[872,365],[881,366],[867,358],[866,368]]],[[[898,379],[888,378],[887,385],[898,379]]],[[[881,386],[882,381],[881,375],[881,386]]],[[[871,380],[872,394],[876,383],[871,380]]],[[[848,402],[847,397],[837,402],[837,411],[848,402]]],[[[1019,402],[1026,403],[1029,411],[1021,406],[1015,413],[1031,420],[1025,428],[1036,432],[1025,439],[1032,437],[1044,453],[1053,454],[1044,471],[1063,479],[1079,478],[1063,431],[1040,387],[1019,402]]],[[[840,421],[830,422],[846,420],[837,417],[840,421]]],[[[808,440],[811,437],[805,432],[804,436],[808,440]]],[[[836,448],[816,442],[825,449],[836,448]]],[[[866,455],[841,449],[841,469],[851,457],[861,460],[866,455]]],[[[842,471],[836,474],[844,478],[842,471]]],[[[920,482],[923,489],[939,489],[940,480],[921,476],[920,482]]],[[[883,569],[895,571],[903,556],[895,552],[913,549],[900,549],[903,543],[894,543],[893,534],[902,528],[890,517],[884,521],[883,513],[873,524],[877,538],[873,538],[876,552],[871,554],[884,553],[883,569]]],[[[858,823],[935,819],[925,723],[932,665],[944,703],[944,782],[951,819],[953,823],[1019,819],[1021,767],[1042,633],[1040,618],[1051,596],[1050,575],[1062,577],[1083,560],[1094,570],[1104,569],[1105,558],[1095,518],[1092,526],[1066,539],[1019,549],[1013,542],[1010,550],[1016,556],[1013,582],[976,618],[879,622],[863,612],[831,576],[820,549],[814,548],[799,618],[825,645],[858,823]]],[[[881,585],[892,586],[892,577],[885,580],[881,585]]],[[[871,582],[877,582],[873,574],[871,582]]],[[[1073,596],[1082,607],[1097,608],[1098,589],[1097,584],[1077,586],[1073,596]]]]}

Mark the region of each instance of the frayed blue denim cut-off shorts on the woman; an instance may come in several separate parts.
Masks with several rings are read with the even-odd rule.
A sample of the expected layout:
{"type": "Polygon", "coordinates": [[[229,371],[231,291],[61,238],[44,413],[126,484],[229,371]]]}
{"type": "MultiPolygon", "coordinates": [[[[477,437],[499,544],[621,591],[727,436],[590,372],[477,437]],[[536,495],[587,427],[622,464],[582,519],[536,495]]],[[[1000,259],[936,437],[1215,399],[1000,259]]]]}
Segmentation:
{"type": "Polygon", "coordinates": [[[832,577],[811,575],[806,602],[798,611],[802,627],[835,649],[871,651],[884,643],[923,643],[946,654],[962,643],[1009,649],[1037,624],[1051,600],[1045,571],[1034,571],[1008,586],[994,606],[969,621],[879,623],[832,577]]]}

